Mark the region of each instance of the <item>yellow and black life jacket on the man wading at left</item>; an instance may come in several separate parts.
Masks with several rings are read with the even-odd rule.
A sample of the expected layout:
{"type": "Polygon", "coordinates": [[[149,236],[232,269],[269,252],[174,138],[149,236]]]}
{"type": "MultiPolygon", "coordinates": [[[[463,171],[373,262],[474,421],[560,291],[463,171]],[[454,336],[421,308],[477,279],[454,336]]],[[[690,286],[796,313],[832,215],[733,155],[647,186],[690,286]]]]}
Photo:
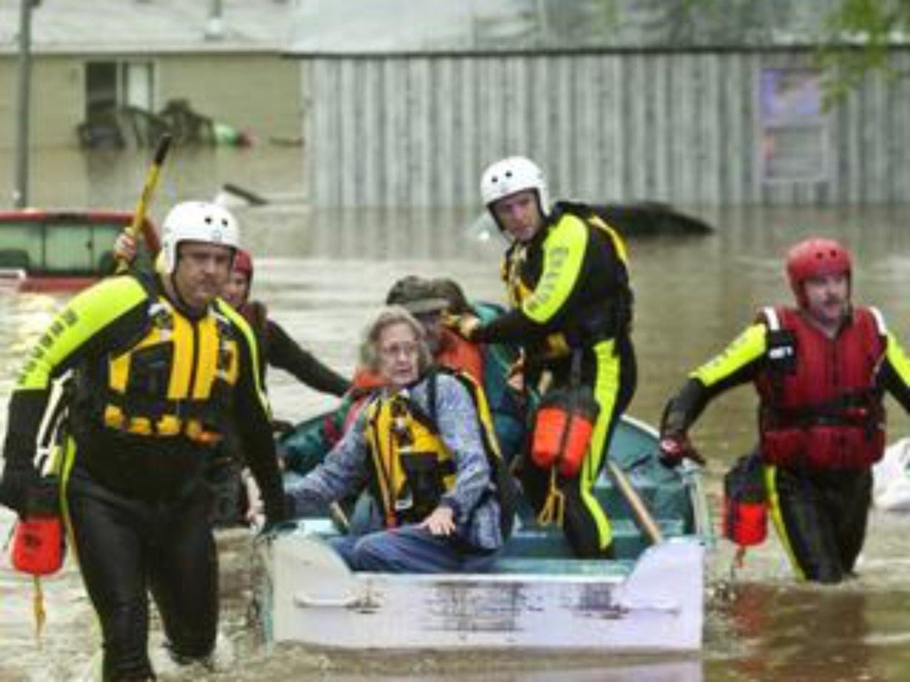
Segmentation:
{"type": "Polygon", "coordinates": [[[214,445],[238,382],[233,327],[214,307],[193,320],[149,293],[145,333],[106,356],[106,386],[94,396],[101,421],[136,436],[186,436],[214,445]]]}

